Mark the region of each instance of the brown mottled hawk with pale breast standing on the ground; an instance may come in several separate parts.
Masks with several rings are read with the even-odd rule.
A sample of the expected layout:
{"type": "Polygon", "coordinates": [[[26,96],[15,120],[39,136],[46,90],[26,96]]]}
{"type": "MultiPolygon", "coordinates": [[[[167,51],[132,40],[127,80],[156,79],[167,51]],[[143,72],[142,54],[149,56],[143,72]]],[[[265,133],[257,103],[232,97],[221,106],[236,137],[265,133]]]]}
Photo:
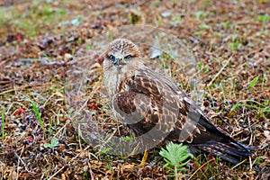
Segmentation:
{"type": "Polygon", "coordinates": [[[139,47],[132,41],[117,39],[108,45],[103,72],[112,111],[137,136],[148,134],[154,141],[184,143],[234,164],[252,155],[217,129],[177,85],[144,65],[139,47]]]}

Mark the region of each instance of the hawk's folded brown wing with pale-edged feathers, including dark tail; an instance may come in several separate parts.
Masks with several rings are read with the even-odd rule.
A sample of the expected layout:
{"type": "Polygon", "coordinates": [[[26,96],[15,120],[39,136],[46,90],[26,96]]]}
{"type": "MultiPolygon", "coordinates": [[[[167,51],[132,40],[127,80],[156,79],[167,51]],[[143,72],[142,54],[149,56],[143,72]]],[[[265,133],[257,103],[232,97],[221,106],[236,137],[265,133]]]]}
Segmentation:
{"type": "Polygon", "coordinates": [[[165,138],[189,143],[194,147],[236,163],[251,153],[236,140],[218,130],[201,109],[169,79],[139,68],[125,81],[128,88],[112,98],[119,119],[138,135],[162,141],[165,138]],[[126,90],[128,89],[128,91],[126,90]]]}

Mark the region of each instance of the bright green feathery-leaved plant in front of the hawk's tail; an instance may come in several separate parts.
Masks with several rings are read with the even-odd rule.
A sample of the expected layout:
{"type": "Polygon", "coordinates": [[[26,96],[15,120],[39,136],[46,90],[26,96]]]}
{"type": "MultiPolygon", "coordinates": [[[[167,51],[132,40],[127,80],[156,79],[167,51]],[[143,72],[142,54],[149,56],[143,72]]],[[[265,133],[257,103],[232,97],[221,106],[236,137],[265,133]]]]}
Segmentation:
{"type": "Polygon", "coordinates": [[[175,172],[175,174],[172,175],[175,176],[175,179],[178,179],[179,177],[178,172],[186,171],[184,166],[190,161],[190,159],[187,160],[187,158],[193,157],[186,148],[187,146],[183,146],[183,144],[174,144],[173,142],[170,142],[166,145],[166,149],[161,148],[159,151],[159,155],[164,157],[166,163],[169,166],[174,166],[174,169],[169,166],[166,166],[166,168],[175,172]]]}

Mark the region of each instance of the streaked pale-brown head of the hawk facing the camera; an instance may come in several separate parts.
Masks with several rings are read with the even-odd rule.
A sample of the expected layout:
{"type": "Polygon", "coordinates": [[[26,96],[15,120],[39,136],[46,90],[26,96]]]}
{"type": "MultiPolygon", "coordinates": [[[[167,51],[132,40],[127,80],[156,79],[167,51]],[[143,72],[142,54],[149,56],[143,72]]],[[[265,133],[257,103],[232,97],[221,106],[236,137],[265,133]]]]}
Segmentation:
{"type": "Polygon", "coordinates": [[[138,64],[140,61],[139,47],[130,40],[113,40],[103,56],[104,68],[121,68],[126,65],[138,64]]]}

